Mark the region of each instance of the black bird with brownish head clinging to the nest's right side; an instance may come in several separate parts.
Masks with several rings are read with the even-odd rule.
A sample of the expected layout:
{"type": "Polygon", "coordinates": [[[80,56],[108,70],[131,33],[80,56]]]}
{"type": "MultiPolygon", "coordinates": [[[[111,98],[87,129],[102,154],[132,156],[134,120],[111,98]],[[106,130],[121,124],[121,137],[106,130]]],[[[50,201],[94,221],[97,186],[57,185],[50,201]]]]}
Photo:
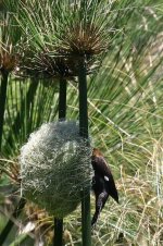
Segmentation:
{"type": "Polygon", "coordinates": [[[96,196],[96,211],[91,220],[91,225],[93,226],[97,223],[100,212],[103,209],[109,196],[118,202],[118,194],[111,169],[100,150],[97,148],[93,148],[91,164],[95,171],[95,175],[92,177],[92,190],[96,196]]]}

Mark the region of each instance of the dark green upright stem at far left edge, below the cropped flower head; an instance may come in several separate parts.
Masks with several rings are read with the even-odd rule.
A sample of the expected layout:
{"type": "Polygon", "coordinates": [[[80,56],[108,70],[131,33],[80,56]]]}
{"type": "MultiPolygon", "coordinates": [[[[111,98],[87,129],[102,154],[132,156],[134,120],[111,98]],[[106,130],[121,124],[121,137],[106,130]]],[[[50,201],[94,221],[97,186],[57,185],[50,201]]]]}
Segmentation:
{"type": "Polygon", "coordinates": [[[3,134],[3,122],[4,122],[9,72],[1,71],[1,74],[2,74],[2,78],[1,78],[1,88],[0,88],[0,150],[2,147],[2,134],[3,134]]]}

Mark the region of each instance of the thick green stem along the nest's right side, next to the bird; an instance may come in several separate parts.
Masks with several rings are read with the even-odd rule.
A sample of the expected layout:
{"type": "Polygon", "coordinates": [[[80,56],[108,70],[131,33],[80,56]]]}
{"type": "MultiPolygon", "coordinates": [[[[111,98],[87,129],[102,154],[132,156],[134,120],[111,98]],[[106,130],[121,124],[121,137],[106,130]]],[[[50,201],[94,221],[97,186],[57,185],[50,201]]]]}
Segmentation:
{"type": "MultiPolygon", "coordinates": [[[[79,62],[78,71],[79,83],[79,135],[88,138],[88,107],[87,107],[87,76],[86,64],[83,58],[79,62]]],[[[91,224],[90,224],[90,188],[82,192],[82,232],[83,246],[91,245],[91,224]]]]}

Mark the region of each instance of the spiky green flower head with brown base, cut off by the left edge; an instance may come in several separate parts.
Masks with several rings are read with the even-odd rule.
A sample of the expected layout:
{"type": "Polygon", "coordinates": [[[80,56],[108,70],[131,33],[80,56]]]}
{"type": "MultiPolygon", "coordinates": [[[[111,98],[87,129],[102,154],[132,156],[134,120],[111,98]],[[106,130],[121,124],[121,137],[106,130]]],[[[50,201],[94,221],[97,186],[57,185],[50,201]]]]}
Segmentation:
{"type": "Polygon", "coordinates": [[[21,40],[21,29],[15,21],[18,12],[17,0],[3,0],[3,11],[0,12],[0,72],[10,73],[16,71],[21,57],[18,42],[21,40]]]}

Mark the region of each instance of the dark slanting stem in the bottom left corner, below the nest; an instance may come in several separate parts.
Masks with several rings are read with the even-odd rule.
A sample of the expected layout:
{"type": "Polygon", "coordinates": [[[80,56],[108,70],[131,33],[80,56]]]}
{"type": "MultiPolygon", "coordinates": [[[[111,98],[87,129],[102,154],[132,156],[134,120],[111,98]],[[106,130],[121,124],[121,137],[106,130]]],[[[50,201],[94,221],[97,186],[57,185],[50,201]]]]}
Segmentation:
{"type": "MultiPolygon", "coordinates": [[[[25,204],[26,204],[26,201],[22,197],[21,200],[18,201],[18,206],[16,207],[16,209],[14,210],[14,212],[12,213],[12,218],[13,219],[18,218],[18,216],[22,212],[25,204]]],[[[13,225],[14,225],[14,222],[11,219],[9,219],[5,227],[3,229],[3,231],[0,234],[0,245],[2,245],[4,243],[4,241],[7,239],[9,233],[11,232],[11,229],[13,227],[13,225]]]]}

